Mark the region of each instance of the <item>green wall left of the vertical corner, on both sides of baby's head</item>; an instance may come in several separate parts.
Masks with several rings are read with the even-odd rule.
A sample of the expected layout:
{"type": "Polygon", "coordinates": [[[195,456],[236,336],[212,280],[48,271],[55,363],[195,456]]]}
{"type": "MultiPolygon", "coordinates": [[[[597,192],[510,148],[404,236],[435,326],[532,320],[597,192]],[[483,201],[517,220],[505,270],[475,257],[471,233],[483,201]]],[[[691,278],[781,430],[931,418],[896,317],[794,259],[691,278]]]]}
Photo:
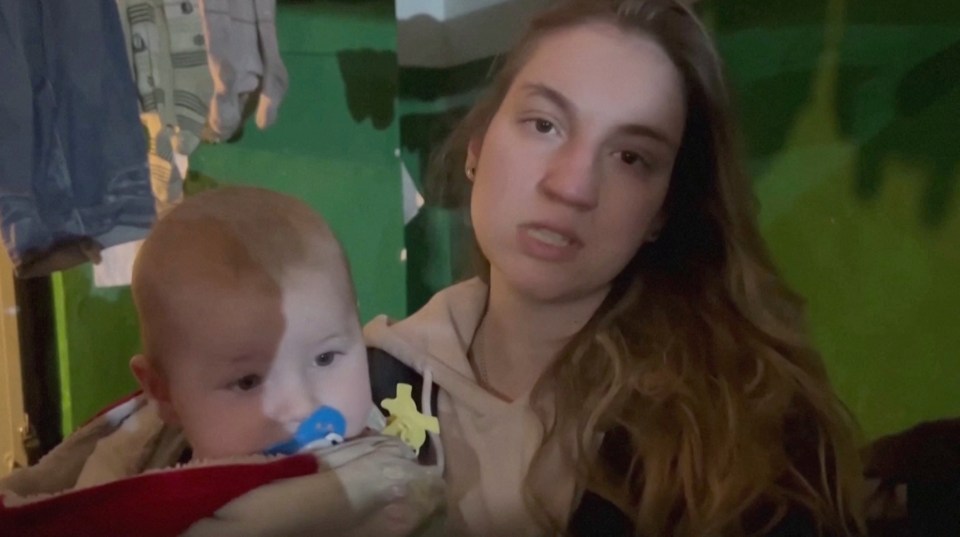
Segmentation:
{"type": "MultiPolygon", "coordinates": [[[[249,184],[306,200],[344,244],[363,320],[403,316],[393,2],[280,3],[277,28],[290,73],[279,121],[201,146],[187,189],[249,184]]],[[[129,289],[93,288],[91,267],[55,275],[54,291],[67,433],[135,389],[127,362],[139,338],[129,289]]]]}

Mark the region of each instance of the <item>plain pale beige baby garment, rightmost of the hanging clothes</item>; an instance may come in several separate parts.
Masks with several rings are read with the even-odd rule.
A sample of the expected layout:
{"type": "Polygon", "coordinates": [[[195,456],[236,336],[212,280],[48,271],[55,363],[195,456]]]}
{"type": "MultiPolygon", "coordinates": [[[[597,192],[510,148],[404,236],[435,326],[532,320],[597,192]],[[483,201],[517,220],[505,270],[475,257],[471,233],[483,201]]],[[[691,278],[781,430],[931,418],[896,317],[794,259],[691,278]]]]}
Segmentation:
{"type": "Polygon", "coordinates": [[[276,121],[287,92],[287,68],[277,45],[274,0],[200,0],[214,78],[204,139],[222,142],[241,129],[256,108],[256,123],[276,121]]]}

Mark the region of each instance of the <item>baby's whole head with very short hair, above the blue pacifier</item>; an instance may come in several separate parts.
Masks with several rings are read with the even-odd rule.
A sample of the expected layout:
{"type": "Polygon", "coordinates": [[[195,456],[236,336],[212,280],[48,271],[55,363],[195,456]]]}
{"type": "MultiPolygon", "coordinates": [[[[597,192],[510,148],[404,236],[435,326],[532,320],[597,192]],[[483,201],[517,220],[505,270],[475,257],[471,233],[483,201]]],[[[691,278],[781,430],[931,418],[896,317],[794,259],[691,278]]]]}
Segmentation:
{"type": "Polygon", "coordinates": [[[231,187],[161,218],[133,272],[143,354],[130,366],[194,457],[261,452],[329,406],[361,432],[367,354],[346,258],[323,219],[231,187]]]}

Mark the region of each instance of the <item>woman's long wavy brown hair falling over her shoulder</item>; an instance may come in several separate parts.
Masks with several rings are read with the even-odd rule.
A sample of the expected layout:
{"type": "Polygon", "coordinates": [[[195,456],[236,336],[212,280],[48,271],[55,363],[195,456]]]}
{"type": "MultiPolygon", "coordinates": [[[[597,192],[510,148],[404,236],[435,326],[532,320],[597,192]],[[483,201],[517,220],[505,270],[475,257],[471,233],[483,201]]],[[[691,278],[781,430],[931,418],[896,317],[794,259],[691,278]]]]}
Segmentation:
{"type": "MultiPolygon", "coordinates": [[[[549,384],[559,394],[555,411],[541,413],[548,438],[575,428],[578,482],[618,505],[638,533],[762,534],[788,513],[825,534],[861,533],[857,428],[811,346],[802,300],[758,231],[722,64],[690,9],[568,0],[540,14],[435,153],[431,184],[441,186],[432,194],[467,201],[467,146],[537,45],[595,22],[663,48],[682,74],[687,120],[659,238],[617,276],[534,391],[549,384]],[[609,438],[603,453],[600,434],[609,438]]],[[[549,471],[539,459],[528,500],[562,531],[531,485],[549,471]]]]}

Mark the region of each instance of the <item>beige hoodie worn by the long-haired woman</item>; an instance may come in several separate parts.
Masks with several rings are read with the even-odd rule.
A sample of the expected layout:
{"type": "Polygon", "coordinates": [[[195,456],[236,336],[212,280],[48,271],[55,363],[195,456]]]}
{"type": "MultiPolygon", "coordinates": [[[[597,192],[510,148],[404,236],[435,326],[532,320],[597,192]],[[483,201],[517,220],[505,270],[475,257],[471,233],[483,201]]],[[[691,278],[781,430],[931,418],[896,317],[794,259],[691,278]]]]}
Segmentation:
{"type": "MultiPolygon", "coordinates": [[[[440,438],[447,483],[447,535],[532,536],[538,529],[524,502],[524,478],[544,428],[529,395],[512,402],[481,388],[467,360],[487,286],[478,279],[449,287],[407,319],[379,316],[364,328],[367,345],[395,356],[441,388],[440,438]]],[[[428,389],[427,386],[424,387],[428,389]]],[[[553,442],[542,457],[549,483],[534,483],[557,520],[575,500],[573,463],[553,442]]]]}

